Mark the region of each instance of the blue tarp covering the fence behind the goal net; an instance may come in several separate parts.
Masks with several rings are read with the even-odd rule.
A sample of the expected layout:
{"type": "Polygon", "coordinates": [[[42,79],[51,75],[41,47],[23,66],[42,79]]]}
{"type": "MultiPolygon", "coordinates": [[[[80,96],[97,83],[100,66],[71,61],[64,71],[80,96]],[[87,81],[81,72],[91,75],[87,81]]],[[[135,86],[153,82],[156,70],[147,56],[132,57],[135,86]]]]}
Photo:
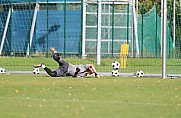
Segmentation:
{"type": "MultiPolygon", "coordinates": [[[[0,24],[2,37],[7,13],[0,13],[0,16],[3,16],[2,25],[0,24]]],[[[12,25],[8,27],[3,50],[10,50],[11,47],[11,50],[26,52],[32,18],[33,11],[13,12],[12,25]]],[[[67,10],[66,17],[63,10],[49,10],[48,15],[46,10],[40,10],[36,19],[31,51],[46,51],[48,44],[48,48],[55,47],[59,52],[79,53],[80,39],[81,10],[67,10]]]]}

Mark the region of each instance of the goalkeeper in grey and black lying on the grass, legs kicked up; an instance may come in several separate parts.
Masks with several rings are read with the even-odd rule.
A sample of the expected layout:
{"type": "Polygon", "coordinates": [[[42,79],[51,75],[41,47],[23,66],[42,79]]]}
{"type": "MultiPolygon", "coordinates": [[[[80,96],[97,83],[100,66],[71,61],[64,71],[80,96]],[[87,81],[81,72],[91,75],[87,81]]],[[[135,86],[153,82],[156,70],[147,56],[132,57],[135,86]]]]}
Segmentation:
{"type": "Polygon", "coordinates": [[[93,64],[73,65],[64,61],[55,48],[50,48],[50,50],[53,52],[53,59],[58,62],[59,67],[55,71],[52,71],[45,64],[41,63],[34,65],[34,68],[42,67],[51,77],[86,77],[91,74],[95,74],[96,78],[100,77],[93,64]]]}

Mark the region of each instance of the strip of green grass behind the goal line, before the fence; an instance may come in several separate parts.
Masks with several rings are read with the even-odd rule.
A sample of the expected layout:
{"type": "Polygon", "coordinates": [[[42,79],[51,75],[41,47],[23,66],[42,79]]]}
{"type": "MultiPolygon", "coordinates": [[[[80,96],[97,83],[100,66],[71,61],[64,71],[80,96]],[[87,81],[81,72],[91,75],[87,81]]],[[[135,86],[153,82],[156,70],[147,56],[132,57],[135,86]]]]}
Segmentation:
{"type": "MultiPolygon", "coordinates": [[[[96,66],[98,72],[111,72],[112,62],[119,61],[119,58],[102,58],[101,65],[96,64],[96,59],[81,59],[81,58],[65,58],[66,61],[72,64],[87,64],[92,63],[96,66]]],[[[29,70],[32,71],[33,65],[44,62],[51,69],[56,69],[58,64],[52,58],[22,58],[22,57],[1,57],[0,67],[5,67],[6,70],[29,70]]],[[[167,59],[167,73],[180,74],[181,59],[167,59]]],[[[161,58],[128,58],[126,69],[120,69],[122,73],[135,73],[137,70],[143,70],[145,73],[161,74],[162,59],[161,58]]]]}

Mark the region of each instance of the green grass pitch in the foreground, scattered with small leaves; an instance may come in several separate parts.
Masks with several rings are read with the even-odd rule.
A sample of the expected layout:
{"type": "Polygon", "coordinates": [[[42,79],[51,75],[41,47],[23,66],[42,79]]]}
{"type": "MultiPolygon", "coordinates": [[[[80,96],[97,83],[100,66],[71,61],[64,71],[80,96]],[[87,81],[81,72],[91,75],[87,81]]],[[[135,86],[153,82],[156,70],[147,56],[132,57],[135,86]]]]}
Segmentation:
{"type": "Polygon", "coordinates": [[[0,118],[180,118],[181,79],[0,75],[0,118]]]}

